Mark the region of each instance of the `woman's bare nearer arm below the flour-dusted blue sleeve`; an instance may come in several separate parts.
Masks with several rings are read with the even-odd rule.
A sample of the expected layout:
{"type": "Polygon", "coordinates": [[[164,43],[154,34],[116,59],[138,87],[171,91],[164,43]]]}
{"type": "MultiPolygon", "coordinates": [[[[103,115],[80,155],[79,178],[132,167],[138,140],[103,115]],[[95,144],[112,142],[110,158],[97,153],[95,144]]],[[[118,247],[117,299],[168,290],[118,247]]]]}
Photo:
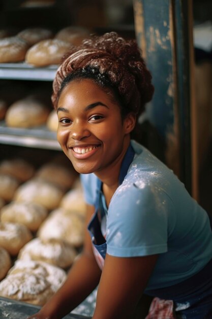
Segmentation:
{"type": "Polygon", "coordinates": [[[113,257],[106,255],[93,319],[131,319],[158,255],[113,257]]]}

